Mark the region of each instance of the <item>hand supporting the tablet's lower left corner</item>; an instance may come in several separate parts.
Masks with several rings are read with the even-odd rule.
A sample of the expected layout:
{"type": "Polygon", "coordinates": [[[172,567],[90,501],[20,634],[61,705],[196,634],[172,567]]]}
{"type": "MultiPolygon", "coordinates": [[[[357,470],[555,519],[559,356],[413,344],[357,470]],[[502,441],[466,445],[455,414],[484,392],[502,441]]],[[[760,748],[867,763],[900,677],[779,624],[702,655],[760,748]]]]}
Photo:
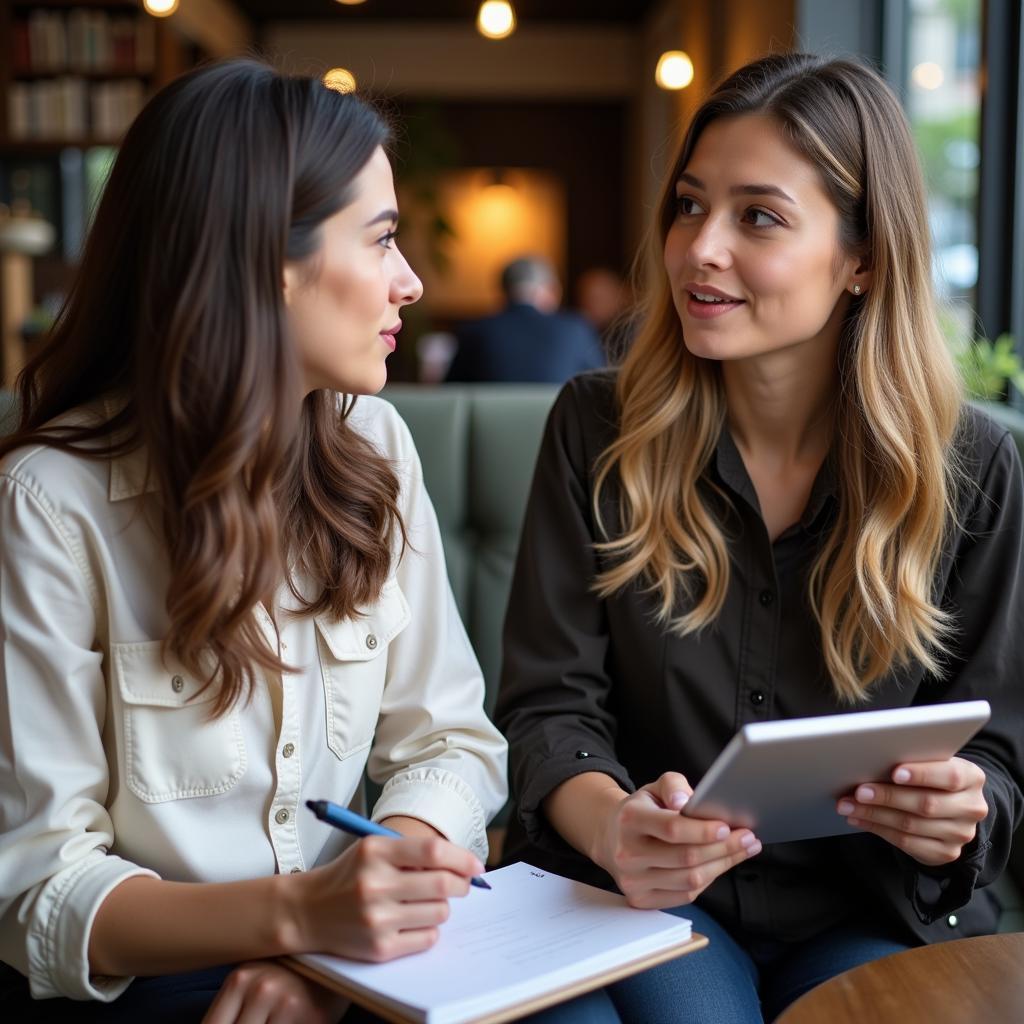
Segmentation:
{"type": "Polygon", "coordinates": [[[680,814],[692,793],[685,776],[666,772],[605,816],[592,856],[631,906],[691,903],[720,874],[761,852],[749,828],[680,814]]]}

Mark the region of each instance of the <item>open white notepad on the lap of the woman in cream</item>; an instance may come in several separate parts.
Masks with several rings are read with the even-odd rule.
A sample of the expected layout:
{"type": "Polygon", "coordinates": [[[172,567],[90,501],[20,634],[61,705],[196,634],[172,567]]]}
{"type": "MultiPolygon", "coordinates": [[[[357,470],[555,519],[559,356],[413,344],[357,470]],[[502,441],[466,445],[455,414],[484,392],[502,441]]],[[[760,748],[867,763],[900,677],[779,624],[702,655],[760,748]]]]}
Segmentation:
{"type": "Polygon", "coordinates": [[[451,900],[426,952],[386,964],[302,955],[290,964],[396,1022],[500,1024],[692,952],[684,918],[517,863],[490,891],[451,900]]]}

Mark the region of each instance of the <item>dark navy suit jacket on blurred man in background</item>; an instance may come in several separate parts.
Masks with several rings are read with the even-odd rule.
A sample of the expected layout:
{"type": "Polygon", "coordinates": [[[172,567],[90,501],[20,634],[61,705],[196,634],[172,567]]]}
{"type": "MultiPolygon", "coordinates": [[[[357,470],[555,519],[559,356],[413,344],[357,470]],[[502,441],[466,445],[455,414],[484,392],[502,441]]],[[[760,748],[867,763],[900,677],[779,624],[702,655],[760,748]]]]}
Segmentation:
{"type": "Polygon", "coordinates": [[[561,384],[604,362],[601,343],[582,316],[511,303],[459,331],[446,379],[561,384]]]}

